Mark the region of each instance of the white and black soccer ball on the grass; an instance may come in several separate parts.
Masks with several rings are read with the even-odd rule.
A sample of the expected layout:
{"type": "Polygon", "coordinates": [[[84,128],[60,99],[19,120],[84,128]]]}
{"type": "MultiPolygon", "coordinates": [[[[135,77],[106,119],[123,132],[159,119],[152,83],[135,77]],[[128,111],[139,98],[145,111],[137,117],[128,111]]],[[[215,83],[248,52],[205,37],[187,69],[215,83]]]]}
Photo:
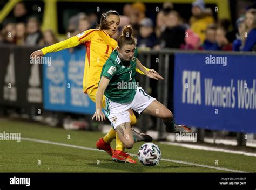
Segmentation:
{"type": "Polygon", "coordinates": [[[154,166],[159,164],[162,157],[161,150],[154,143],[145,143],[138,150],[138,159],[144,166],[154,166]]]}

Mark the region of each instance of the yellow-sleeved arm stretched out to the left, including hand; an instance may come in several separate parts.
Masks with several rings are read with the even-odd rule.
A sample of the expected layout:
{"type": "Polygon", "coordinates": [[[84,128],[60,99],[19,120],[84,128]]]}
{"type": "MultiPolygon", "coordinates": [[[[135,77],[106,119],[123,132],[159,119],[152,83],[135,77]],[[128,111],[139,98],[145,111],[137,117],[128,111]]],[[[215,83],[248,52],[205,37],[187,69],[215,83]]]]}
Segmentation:
{"type": "Polygon", "coordinates": [[[56,43],[56,44],[53,44],[51,46],[45,47],[41,50],[37,50],[37,51],[33,52],[30,55],[30,57],[32,57],[32,58],[42,57],[46,53],[57,52],[57,51],[60,51],[60,50],[64,50],[66,48],[75,47],[79,44],[80,44],[80,42],[78,40],[78,37],[73,36],[73,37],[71,37],[69,39],[66,39],[64,41],[60,41],[59,43],[56,43]]]}

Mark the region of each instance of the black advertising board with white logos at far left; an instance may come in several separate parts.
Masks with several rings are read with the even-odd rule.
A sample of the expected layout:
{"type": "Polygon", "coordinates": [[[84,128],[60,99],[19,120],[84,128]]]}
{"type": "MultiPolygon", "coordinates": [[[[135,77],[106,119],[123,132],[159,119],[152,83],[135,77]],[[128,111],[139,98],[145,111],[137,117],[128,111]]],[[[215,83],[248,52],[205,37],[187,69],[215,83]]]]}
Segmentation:
{"type": "Polygon", "coordinates": [[[42,67],[30,64],[35,47],[0,46],[0,104],[33,114],[43,108],[42,67]]]}

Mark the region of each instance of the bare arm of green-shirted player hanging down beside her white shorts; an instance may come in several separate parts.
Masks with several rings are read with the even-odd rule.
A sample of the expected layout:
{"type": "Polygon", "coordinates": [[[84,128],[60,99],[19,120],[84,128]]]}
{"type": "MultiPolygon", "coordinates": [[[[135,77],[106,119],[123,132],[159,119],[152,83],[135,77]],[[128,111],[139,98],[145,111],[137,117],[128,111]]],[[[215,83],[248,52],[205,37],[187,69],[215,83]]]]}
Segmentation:
{"type": "Polygon", "coordinates": [[[96,121],[106,120],[105,115],[102,112],[102,99],[107,85],[109,85],[109,79],[105,76],[102,76],[99,82],[98,90],[96,93],[96,110],[95,114],[92,116],[92,120],[95,118],[96,121]]]}

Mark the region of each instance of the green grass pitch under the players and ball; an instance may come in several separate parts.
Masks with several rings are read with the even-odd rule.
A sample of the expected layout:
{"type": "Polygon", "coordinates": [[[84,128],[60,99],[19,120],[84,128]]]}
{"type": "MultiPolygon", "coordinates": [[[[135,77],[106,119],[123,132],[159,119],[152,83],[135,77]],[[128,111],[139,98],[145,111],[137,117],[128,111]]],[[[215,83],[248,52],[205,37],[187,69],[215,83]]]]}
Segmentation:
{"type": "MultiPolygon", "coordinates": [[[[115,163],[106,152],[95,150],[96,141],[104,135],[100,132],[69,131],[36,123],[1,119],[0,132],[3,131],[19,132],[22,138],[47,140],[49,143],[92,149],[85,150],[25,139],[21,139],[19,143],[14,140],[0,140],[0,172],[227,172],[215,168],[175,163],[172,160],[256,172],[256,157],[252,156],[193,150],[153,142],[160,146],[162,158],[166,160],[161,160],[156,166],[143,166],[137,158],[137,164],[115,163]],[[218,165],[215,165],[215,160],[218,160],[218,165]]],[[[128,150],[129,153],[137,154],[142,144],[143,142],[134,144],[134,147],[128,150]]],[[[114,147],[114,140],[111,145],[114,147]]]]}

